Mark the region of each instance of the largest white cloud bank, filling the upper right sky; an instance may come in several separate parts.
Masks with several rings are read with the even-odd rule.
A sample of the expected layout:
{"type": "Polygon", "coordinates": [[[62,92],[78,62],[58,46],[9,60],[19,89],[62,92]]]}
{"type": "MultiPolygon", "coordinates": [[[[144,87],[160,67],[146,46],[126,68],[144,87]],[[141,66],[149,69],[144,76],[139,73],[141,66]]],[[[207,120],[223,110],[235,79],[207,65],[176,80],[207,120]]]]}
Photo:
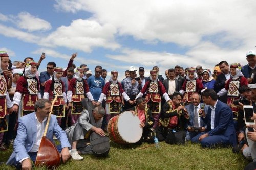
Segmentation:
{"type": "Polygon", "coordinates": [[[91,12],[95,20],[113,25],[120,35],[195,46],[204,36],[222,33],[225,34],[219,41],[254,43],[255,5],[252,0],[246,3],[231,0],[56,0],[55,8],[73,13],[91,12]]]}

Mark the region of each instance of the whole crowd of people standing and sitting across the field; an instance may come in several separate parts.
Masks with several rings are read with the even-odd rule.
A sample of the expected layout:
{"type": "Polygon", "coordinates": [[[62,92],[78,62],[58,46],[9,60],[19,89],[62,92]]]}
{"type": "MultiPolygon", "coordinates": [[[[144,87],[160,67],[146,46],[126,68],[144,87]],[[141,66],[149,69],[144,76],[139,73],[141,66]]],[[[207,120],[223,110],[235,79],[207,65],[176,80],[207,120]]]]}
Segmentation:
{"type": "Polygon", "coordinates": [[[0,150],[13,145],[7,164],[31,167],[49,106],[58,95],[49,139],[53,135],[59,139],[57,148],[64,161],[69,155],[81,160],[81,154],[92,153],[91,131],[104,136],[111,118],[128,110],[138,116],[143,128],[138,143],[153,143],[154,134],[164,141],[170,131],[184,132],[185,141],[202,147],[231,145],[233,152],[256,161],[256,132],[247,131],[243,112],[243,105],[256,109],[255,54],[246,53],[244,66],[220,61],[213,72],[200,65],[186,69],[176,65],[165,71],[166,79],[159,75],[158,66],[150,77],[144,76],[143,66],[138,70],[131,66],[120,81],[116,70],[106,80],[108,71],[101,66],[95,67],[94,75],[86,64],[76,67],[77,53],[67,69],[48,62],[46,71],[39,73],[44,53],[38,62],[28,57],[11,63],[7,52],[1,51],[0,150]]]}

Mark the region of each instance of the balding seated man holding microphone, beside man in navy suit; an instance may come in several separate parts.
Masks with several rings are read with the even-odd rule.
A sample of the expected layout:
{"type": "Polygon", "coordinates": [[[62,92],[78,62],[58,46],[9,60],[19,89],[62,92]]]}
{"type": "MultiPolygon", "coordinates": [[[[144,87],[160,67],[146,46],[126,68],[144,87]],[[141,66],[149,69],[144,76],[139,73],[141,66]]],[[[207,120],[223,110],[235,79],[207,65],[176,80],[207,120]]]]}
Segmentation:
{"type": "MultiPolygon", "coordinates": [[[[199,111],[203,106],[203,103],[200,103],[201,95],[198,93],[192,94],[191,101],[192,101],[191,104],[185,106],[189,114],[189,122],[187,123],[187,126],[186,126],[186,129],[187,129],[187,134],[185,138],[186,141],[191,140],[191,138],[193,138],[194,136],[206,130],[206,124],[204,123],[204,120],[201,117],[201,115],[199,115],[199,111]],[[195,117],[197,117],[197,121],[195,117]],[[200,127],[200,130],[195,131],[195,129],[193,129],[194,127],[197,127],[197,128],[200,127]]],[[[204,111],[207,112],[207,110],[208,110],[208,105],[205,105],[204,111]]]]}

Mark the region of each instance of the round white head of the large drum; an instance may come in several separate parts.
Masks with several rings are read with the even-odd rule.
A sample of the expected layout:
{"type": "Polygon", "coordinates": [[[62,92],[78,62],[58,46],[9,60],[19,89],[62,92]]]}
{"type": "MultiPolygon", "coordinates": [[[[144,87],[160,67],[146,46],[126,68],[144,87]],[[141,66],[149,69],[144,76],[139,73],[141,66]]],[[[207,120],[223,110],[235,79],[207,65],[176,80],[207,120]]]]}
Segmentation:
{"type": "Polygon", "coordinates": [[[139,117],[132,112],[123,112],[118,118],[117,129],[121,138],[128,143],[136,143],[142,136],[139,117]]]}

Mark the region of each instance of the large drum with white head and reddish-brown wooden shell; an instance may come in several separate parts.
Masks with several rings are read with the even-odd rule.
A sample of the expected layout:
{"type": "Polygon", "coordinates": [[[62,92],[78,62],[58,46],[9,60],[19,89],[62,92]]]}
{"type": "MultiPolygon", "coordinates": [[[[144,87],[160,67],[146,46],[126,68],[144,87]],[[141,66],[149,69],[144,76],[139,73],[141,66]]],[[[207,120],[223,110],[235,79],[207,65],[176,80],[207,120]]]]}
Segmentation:
{"type": "Polygon", "coordinates": [[[110,119],[108,123],[108,135],[110,140],[117,144],[136,143],[142,136],[142,128],[139,126],[139,117],[130,111],[125,111],[110,119]]]}

